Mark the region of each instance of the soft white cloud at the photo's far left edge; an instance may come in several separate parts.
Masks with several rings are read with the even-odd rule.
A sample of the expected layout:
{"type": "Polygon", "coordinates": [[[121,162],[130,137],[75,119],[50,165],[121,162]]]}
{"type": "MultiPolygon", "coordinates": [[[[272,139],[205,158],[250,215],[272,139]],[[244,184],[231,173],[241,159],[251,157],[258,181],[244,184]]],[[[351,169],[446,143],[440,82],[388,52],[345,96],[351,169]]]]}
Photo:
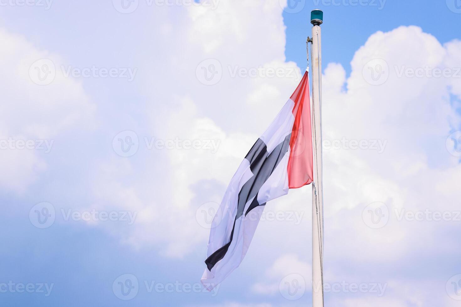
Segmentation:
{"type": "MultiPolygon", "coordinates": [[[[4,72],[0,75],[1,140],[52,141],[72,127],[93,124],[95,106],[81,84],[66,79],[59,71],[48,85],[38,85],[33,81],[34,75],[30,77],[30,73],[39,73],[31,69],[36,61],[50,59],[58,67],[62,63],[59,55],[39,50],[5,29],[0,29],[0,40],[0,67],[4,72]]],[[[47,71],[52,70],[47,67],[47,71]]],[[[40,150],[15,148],[2,143],[0,188],[21,192],[39,178],[47,164],[40,150]]]]}

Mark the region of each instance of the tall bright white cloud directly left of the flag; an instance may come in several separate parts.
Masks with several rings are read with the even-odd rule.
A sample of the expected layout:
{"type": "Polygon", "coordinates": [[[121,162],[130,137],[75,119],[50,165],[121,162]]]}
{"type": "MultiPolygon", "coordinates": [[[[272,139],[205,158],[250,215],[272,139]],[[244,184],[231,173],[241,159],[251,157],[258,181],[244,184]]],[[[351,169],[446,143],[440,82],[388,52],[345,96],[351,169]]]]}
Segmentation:
{"type": "MultiPolygon", "coordinates": [[[[133,191],[142,206],[155,212],[155,217],[137,220],[129,228],[126,241],[134,246],[162,244],[162,253],[171,257],[183,257],[207,241],[209,230],[197,223],[197,209],[203,203],[220,202],[242,157],[290,97],[303,73],[295,63],[285,62],[282,8],[276,1],[221,1],[213,11],[194,6],[177,13],[183,18],[174,28],[166,27],[165,18],[156,15],[153,23],[163,27],[153,34],[152,42],[146,42],[148,46],[139,48],[158,49],[159,40],[170,46],[158,50],[157,58],[143,70],[148,74],[139,72],[146,84],[143,90],[152,102],[147,105],[149,126],[144,128],[156,139],[197,140],[201,147],[184,150],[174,146],[155,151],[150,159],[158,163],[146,162],[136,172],[138,180],[132,183],[133,191]],[[260,20],[256,22],[255,18],[260,20]],[[213,27],[208,27],[210,24],[213,27]],[[178,41],[181,46],[175,48],[178,41]],[[196,72],[201,62],[210,59],[218,61],[222,78],[207,86],[196,72]],[[161,74],[150,73],[153,70],[161,70],[161,74]],[[209,142],[216,146],[206,148],[209,142]],[[155,191],[152,200],[152,194],[143,189],[159,185],[159,177],[151,175],[159,174],[159,164],[167,169],[161,176],[164,188],[155,191]],[[199,186],[205,182],[218,190],[199,194],[199,186]],[[153,235],[160,229],[169,231],[162,236],[153,235]]],[[[139,66],[146,66],[145,61],[139,66]]],[[[129,163],[136,165],[141,159],[144,157],[133,156],[129,163]]],[[[117,168],[118,159],[107,163],[117,168]]],[[[95,177],[104,178],[97,174],[95,177]]],[[[108,194],[116,196],[123,193],[118,186],[125,178],[115,175],[112,179],[119,184],[105,185],[100,181],[96,185],[105,185],[105,191],[112,186],[108,194]]],[[[126,207],[131,208],[130,204],[126,207]]]]}

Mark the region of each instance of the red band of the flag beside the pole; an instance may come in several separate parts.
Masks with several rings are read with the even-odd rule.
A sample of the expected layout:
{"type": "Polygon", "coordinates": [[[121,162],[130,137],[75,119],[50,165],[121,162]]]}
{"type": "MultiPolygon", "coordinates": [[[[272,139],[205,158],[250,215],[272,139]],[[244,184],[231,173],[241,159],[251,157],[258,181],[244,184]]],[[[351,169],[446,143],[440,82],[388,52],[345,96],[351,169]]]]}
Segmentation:
{"type": "Polygon", "coordinates": [[[288,186],[290,189],[295,189],[313,181],[312,125],[307,72],[291,95],[291,100],[295,102],[293,107],[295,122],[290,139],[288,186]]]}

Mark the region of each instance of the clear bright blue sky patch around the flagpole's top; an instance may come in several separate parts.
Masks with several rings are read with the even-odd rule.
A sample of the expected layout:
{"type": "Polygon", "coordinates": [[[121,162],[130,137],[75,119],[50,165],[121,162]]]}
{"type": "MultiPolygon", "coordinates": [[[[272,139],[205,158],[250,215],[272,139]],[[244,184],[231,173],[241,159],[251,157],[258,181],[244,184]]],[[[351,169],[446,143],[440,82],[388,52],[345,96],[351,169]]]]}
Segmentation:
{"type": "MultiPolygon", "coordinates": [[[[460,26],[460,15],[447,10],[447,6],[436,1],[366,1],[367,6],[344,6],[343,1],[307,1],[301,12],[284,12],[287,26],[286,56],[300,67],[306,62],[304,37],[310,33],[310,11],[324,11],[322,25],[322,58],[325,63],[341,63],[350,73],[349,62],[358,46],[362,46],[370,35],[377,31],[387,32],[399,26],[417,25],[424,32],[445,43],[460,39],[455,29],[460,26]],[[384,4],[382,4],[384,3],[384,4]]],[[[302,6],[302,1],[299,2],[302,6]]],[[[348,3],[346,1],[346,3],[348,3]]],[[[352,2],[354,3],[354,2],[352,2]]]]}

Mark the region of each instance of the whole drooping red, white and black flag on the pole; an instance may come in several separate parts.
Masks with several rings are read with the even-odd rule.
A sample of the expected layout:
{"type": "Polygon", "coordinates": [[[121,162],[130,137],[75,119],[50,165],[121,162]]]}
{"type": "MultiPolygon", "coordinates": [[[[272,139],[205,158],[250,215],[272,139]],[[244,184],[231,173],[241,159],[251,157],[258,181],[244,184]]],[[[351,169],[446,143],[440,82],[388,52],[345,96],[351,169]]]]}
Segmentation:
{"type": "Polygon", "coordinates": [[[313,178],[308,72],[266,132],[254,143],[225,192],[208,242],[207,290],[242,262],[268,201],[313,178]]]}

